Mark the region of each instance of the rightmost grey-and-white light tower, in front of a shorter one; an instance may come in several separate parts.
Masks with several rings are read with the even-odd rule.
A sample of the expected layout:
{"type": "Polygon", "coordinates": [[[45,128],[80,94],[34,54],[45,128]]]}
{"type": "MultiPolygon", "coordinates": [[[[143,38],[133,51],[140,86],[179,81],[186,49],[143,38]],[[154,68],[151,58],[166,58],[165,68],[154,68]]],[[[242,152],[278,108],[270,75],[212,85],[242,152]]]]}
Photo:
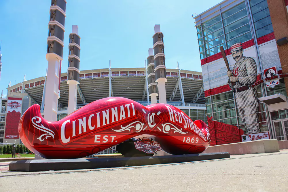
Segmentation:
{"type": "Polygon", "coordinates": [[[164,54],[163,33],[160,31],[160,25],[154,26],[153,50],[155,66],[155,82],[158,83],[159,103],[167,103],[166,100],[166,66],[164,54]]]}

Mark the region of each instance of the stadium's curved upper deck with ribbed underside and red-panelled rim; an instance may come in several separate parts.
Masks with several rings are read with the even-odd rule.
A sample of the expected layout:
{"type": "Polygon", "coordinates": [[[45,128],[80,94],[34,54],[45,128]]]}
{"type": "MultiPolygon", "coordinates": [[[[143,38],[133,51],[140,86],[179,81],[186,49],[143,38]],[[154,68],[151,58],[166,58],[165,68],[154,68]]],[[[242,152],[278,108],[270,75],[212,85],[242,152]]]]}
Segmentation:
{"type": "MultiPolygon", "coordinates": [[[[167,69],[167,101],[182,101],[178,69],[167,69]]],[[[203,77],[201,72],[180,70],[185,103],[205,104],[203,77]]],[[[9,92],[28,93],[39,105],[42,102],[46,76],[23,81],[13,85],[9,92]]],[[[147,100],[145,68],[111,68],[111,89],[109,89],[109,69],[80,71],[80,84],[77,87],[77,105],[90,103],[111,96],[126,97],[135,101],[147,100]]],[[[69,85],[67,73],[61,73],[60,105],[68,106],[69,85]]],[[[58,103],[59,103],[58,102],[58,103]]]]}

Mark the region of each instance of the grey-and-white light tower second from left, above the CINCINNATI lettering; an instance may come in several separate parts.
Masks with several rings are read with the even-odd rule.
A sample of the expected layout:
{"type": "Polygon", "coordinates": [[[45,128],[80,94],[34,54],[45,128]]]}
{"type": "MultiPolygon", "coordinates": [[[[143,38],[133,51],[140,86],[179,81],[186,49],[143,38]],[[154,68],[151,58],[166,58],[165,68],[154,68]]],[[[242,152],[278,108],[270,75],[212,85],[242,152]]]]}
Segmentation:
{"type": "Polygon", "coordinates": [[[76,110],[77,84],[79,84],[80,65],[80,36],[78,26],[72,26],[72,33],[69,34],[69,56],[68,56],[68,80],[69,98],[68,115],[76,110]]]}

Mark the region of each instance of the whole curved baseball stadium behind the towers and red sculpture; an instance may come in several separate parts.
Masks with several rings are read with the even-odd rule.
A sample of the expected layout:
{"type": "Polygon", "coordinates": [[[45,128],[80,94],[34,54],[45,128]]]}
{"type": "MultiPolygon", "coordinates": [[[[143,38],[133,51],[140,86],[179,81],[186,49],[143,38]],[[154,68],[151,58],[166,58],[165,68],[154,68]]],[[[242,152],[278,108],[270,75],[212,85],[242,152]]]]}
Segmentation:
{"type": "MultiPolygon", "coordinates": [[[[202,73],[183,69],[167,69],[166,78],[167,104],[181,109],[192,120],[201,119],[207,123],[202,73]]],[[[59,84],[60,98],[58,99],[57,120],[67,116],[69,97],[67,73],[61,73],[59,84]]],[[[22,110],[33,104],[39,104],[42,115],[45,110],[43,106],[45,90],[46,76],[19,82],[7,88],[8,94],[23,98],[22,110]],[[24,107],[25,103],[26,107],[24,107]]],[[[151,101],[147,100],[146,68],[106,68],[80,71],[77,85],[77,109],[109,96],[129,98],[144,106],[151,104],[151,101]]],[[[6,122],[7,100],[5,95],[2,95],[1,100],[0,143],[3,142],[6,122]]],[[[159,102],[158,97],[157,102],[159,102]]]]}

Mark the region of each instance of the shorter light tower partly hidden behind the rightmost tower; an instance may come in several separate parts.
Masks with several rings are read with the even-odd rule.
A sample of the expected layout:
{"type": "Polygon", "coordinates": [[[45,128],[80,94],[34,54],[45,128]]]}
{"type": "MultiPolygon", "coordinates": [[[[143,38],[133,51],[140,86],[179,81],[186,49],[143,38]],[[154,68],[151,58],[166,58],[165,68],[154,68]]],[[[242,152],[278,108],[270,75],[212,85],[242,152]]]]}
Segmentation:
{"type": "Polygon", "coordinates": [[[153,49],[148,49],[149,56],[147,57],[147,78],[148,78],[148,92],[151,97],[151,104],[157,103],[157,89],[158,85],[155,82],[155,71],[154,71],[154,55],[153,49]]]}

